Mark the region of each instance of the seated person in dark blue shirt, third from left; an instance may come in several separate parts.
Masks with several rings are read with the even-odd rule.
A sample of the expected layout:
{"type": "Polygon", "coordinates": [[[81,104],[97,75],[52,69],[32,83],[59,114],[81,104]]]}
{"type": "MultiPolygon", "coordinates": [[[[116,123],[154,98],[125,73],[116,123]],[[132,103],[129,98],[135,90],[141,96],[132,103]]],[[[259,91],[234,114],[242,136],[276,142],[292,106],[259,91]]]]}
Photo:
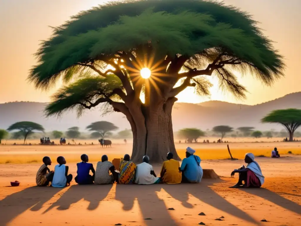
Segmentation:
{"type": "Polygon", "coordinates": [[[92,163],[88,163],[88,155],[83,154],[80,156],[82,162],[76,164],[77,176],[74,178],[77,184],[93,184],[95,177],[95,170],[92,163]],[[90,170],[93,175],[90,175],[90,170]]]}

